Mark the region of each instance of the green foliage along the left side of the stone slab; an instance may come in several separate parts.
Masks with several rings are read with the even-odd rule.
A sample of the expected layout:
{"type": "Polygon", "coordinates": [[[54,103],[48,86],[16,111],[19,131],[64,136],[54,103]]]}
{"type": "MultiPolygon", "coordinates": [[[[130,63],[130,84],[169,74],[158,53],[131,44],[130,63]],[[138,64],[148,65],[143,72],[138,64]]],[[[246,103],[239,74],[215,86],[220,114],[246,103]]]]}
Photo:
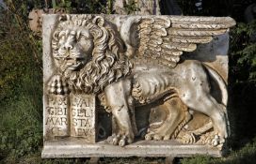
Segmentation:
{"type": "MultiPolygon", "coordinates": [[[[0,158],[15,163],[41,146],[41,41],[27,27],[26,2],[0,13],[0,158]]],[[[4,162],[3,161],[3,162],[4,162]]]]}

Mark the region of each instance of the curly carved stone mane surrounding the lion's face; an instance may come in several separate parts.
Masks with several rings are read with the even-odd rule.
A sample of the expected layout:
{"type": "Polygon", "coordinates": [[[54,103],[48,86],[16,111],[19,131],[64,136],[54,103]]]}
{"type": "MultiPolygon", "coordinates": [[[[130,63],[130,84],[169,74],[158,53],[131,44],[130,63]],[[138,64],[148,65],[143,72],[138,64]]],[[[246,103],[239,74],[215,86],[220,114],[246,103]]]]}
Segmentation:
{"type": "Polygon", "coordinates": [[[130,74],[133,66],[124,54],[120,34],[110,22],[105,22],[101,16],[86,15],[64,15],[59,20],[64,22],[58,24],[54,33],[53,53],[57,52],[58,34],[67,28],[85,28],[93,37],[94,47],[90,61],[79,71],[62,72],[73,92],[99,94],[106,85],[130,74]]]}

